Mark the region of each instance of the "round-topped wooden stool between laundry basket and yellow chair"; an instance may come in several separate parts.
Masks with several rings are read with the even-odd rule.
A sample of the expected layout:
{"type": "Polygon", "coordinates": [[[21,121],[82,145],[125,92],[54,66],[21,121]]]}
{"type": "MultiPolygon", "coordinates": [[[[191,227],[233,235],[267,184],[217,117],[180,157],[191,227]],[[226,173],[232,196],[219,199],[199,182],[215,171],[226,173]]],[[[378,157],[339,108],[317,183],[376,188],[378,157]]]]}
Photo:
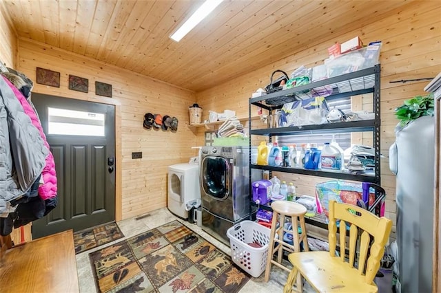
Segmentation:
{"type": "MultiPolygon", "coordinates": [[[[309,251],[308,241],[306,235],[306,227],[305,227],[305,214],[306,208],[301,204],[297,204],[296,202],[288,202],[285,200],[279,200],[273,202],[271,204],[271,208],[273,210],[273,219],[271,223],[271,234],[269,235],[269,251],[268,251],[268,259],[267,259],[267,268],[265,269],[265,282],[269,280],[269,272],[271,271],[271,264],[277,265],[279,268],[286,270],[287,272],[291,272],[291,268],[287,268],[282,265],[282,256],[283,250],[287,250],[288,252],[300,252],[300,242],[303,241],[303,250],[309,251]],[[280,219],[279,219],[280,217],[280,219]],[[291,218],[292,230],[285,229],[285,217],[291,218]],[[276,228],[277,223],[280,223],[278,228],[276,228]],[[300,228],[302,232],[298,234],[298,226],[300,224],[300,228]],[[283,241],[284,232],[292,233],[293,244],[290,245],[283,241]],[[278,238],[276,238],[278,235],[278,238]],[[274,243],[277,243],[276,248],[274,248],[274,243]],[[274,253],[277,252],[277,261],[273,260],[274,253]]],[[[297,279],[297,286],[302,290],[302,280],[301,276],[297,279]]]]}

